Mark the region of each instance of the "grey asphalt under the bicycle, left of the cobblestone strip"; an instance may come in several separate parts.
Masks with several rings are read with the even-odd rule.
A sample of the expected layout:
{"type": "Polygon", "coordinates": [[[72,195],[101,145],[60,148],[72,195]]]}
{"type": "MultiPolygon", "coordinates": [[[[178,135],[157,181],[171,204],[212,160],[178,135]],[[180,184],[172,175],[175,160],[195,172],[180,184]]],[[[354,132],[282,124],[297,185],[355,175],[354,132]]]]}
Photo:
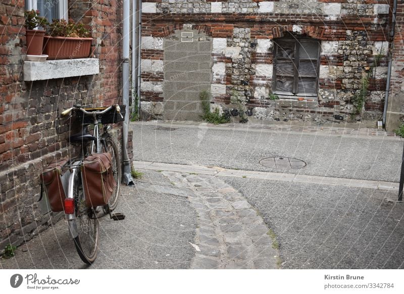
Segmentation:
{"type": "MultiPolygon", "coordinates": [[[[171,187],[161,173],[145,171],[142,183],[171,187]]],[[[95,262],[86,266],[79,258],[63,219],[17,249],[16,257],[0,259],[0,268],[20,269],[183,269],[189,268],[196,214],[188,200],[178,195],[145,191],[122,185],[116,212],[123,221],[100,220],[95,262]]]]}

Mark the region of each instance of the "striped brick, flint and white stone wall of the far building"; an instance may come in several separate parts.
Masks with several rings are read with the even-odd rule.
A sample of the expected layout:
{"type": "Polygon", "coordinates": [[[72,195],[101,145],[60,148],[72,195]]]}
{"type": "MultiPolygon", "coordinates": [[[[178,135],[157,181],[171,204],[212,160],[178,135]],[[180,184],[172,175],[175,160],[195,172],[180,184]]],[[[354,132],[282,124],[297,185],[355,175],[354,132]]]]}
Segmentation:
{"type": "MultiPolygon", "coordinates": [[[[143,7],[145,38],[167,37],[184,24],[213,38],[211,93],[215,102],[223,106],[231,107],[230,97],[236,91],[246,97],[248,114],[261,119],[366,119],[376,125],[381,116],[388,62],[389,1],[147,0],[143,7]],[[285,32],[321,41],[318,97],[307,98],[304,104],[268,100],[274,69],[273,40],[285,32]],[[364,107],[357,115],[355,96],[371,70],[364,107]]],[[[158,55],[164,55],[161,48],[143,52],[142,59],[158,55]]],[[[146,99],[153,99],[153,92],[144,94],[146,99]]],[[[159,101],[163,98],[165,95],[160,93],[159,101]]]]}

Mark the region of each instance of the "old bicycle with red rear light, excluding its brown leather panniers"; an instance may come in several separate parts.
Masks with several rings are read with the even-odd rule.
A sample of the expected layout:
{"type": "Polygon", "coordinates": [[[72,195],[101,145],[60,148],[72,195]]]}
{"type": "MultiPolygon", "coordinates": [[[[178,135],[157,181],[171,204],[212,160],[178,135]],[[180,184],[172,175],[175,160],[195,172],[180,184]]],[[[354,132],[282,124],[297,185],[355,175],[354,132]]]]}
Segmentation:
{"type": "Polygon", "coordinates": [[[110,215],[111,219],[123,220],[125,215],[112,213],[118,205],[120,197],[120,183],[122,179],[121,161],[117,145],[109,134],[109,124],[123,120],[119,105],[108,108],[85,109],[74,106],[62,112],[62,117],[70,114],[70,119],[81,120],[82,131],[70,136],[70,143],[81,144],[78,158],[69,161],[70,170],[68,193],[65,199],[65,214],[67,215],[70,234],[81,260],[86,264],[92,264],[97,256],[98,247],[98,219],[110,215]],[[99,124],[103,124],[103,132],[100,133],[99,124]],[[88,127],[93,126],[93,134],[88,133],[88,127]],[[91,142],[89,149],[88,143],[91,142]],[[108,204],[102,207],[87,207],[84,201],[84,189],[80,167],[83,160],[94,153],[110,153],[112,157],[112,172],[117,183],[108,204]],[[74,160],[74,162],[73,162],[74,160]]]}

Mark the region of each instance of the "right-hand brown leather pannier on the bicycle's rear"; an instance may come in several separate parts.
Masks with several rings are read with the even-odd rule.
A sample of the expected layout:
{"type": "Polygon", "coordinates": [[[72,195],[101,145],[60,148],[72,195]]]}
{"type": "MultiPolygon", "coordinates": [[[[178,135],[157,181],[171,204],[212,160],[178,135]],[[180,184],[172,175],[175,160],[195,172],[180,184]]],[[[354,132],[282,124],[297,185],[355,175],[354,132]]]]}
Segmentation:
{"type": "Polygon", "coordinates": [[[81,165],[81,178],[87,207],[108,204],[114,187],[117,186],[111,162],[110,153],[92,154],[84,159],[81,165]]]}

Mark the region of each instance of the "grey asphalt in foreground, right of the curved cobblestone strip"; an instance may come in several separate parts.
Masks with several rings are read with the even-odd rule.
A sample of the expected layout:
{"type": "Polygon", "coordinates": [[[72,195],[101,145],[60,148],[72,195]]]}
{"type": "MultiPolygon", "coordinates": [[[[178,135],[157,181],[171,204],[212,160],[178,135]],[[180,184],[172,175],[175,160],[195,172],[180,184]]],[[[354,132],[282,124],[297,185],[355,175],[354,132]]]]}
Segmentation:
{"type": "Polygon", "coordinates": [[[281,268],[403,269],[404,205],[394,192],[221,177],[264,217],[281,268]]]}

